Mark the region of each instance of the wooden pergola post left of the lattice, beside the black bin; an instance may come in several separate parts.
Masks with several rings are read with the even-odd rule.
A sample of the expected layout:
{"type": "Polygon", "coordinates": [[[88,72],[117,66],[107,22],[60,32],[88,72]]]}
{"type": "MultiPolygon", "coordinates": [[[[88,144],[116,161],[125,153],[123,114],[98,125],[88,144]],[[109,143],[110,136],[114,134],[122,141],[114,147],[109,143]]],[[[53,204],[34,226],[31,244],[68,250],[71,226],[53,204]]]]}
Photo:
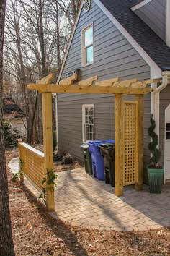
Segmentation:
{"type": "Polygon", "coordinates": [[[115,195],[123,195],[123,95],[115,95],[115,195]]]}

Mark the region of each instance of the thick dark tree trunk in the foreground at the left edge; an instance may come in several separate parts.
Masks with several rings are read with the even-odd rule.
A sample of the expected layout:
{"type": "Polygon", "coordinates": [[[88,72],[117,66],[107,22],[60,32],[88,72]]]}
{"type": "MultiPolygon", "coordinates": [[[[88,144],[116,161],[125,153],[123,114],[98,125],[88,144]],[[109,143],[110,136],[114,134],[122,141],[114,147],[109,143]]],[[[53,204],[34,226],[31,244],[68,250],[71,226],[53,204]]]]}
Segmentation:
{"type": "Polygon", "coordinates": [[[4,132],[2,121],[2,70],[4,45],[4,18],[6,1],[0,1],[0,256],[14,254],[12,226],[9,213],[9,192],[6,175],[4,132]]]}

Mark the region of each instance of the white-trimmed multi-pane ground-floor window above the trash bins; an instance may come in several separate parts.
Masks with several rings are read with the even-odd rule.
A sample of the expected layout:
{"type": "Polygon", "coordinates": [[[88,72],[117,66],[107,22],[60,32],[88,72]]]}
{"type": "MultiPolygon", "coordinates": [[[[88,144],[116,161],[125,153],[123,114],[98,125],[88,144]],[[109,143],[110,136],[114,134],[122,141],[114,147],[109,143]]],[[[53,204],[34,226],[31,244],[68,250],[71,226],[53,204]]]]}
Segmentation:
{"type": "Polygon", "coordinates": [[[83,142],[94,140],[94,104],[82,106],[83,142]]]}

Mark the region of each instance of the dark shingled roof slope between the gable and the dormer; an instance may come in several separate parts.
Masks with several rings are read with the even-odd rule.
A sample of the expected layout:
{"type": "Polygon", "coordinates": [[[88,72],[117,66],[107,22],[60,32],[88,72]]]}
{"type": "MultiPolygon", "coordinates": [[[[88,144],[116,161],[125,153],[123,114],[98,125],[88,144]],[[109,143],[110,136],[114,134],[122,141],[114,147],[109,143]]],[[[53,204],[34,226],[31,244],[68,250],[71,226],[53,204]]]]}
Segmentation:
{"type": "Polygon", "coordinates": [[[128,31],[136,42],[156,62],[160,69],[170,70],[170,48],[161,38],[130,9],[140,1],[100,0],[104,7],[128,31]]]}

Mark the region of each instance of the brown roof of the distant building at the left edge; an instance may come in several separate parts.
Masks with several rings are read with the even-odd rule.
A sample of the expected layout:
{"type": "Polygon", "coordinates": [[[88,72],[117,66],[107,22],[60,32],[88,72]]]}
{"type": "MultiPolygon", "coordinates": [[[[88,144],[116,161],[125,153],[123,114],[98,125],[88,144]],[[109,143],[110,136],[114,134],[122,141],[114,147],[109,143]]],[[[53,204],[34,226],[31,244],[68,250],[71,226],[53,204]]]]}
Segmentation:
{"type": "Polygon", "coordinates": [[[24,116],[24,112],[21,108],[19,108],[12,98],[4,98],[3,112],[4,117],[17,118],[24,116]]]}

